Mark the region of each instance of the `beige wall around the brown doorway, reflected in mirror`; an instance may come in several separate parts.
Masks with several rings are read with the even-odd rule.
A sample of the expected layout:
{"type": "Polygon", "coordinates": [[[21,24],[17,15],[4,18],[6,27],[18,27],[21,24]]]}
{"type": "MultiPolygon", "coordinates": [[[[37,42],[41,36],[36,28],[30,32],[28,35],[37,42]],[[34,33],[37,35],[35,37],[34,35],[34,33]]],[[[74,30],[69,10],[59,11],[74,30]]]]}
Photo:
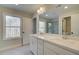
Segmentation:
{"type": "Polygon", "coordinates": [[[59,33],[62,34],[62,19],[63,17],[71,16],[71,32],[74,35],[79,35],[79,10],[62,14],[59,17],[59,33]]]}

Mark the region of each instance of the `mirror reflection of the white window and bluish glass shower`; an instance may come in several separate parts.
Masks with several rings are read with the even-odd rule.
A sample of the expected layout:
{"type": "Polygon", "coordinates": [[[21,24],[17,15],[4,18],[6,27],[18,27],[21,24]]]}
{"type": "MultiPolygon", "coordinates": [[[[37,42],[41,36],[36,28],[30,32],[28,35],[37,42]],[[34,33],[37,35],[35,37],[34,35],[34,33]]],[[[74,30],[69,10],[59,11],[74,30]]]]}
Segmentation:
{"type": "Polygon", "coordinates": [[[52,18],[53,16],[50,16],[50,14],[41,14],[39,16],[39,32],[58,34],[58,17],[52,18]]]}

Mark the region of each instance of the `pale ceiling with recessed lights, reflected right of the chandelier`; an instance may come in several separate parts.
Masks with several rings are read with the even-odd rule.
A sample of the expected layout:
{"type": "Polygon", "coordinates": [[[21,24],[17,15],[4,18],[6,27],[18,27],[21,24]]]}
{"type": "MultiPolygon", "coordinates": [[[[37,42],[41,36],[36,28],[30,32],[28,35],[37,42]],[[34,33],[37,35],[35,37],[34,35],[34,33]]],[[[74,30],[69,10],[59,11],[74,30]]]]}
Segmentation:
{"type": "Polygon", "coordinates": [[[48,8],[47,12],[45,12],[44,14],[41,14],[41,17],[47,18],[47,19],[53,19],[53,18],[58,18],[59,15],[64,14],[64,13],[68,13],[68,12],[74,12],[76,10],[79,10],[79,4],[63,4],[63,5],[54,5],[52,7],[52,5],[50,6],[50,8],[48,8]],[[67,6],[67,9],[64,9],[64,7],[67,6]],[[46,16],[48,15],[48,16],[46,16]]]}

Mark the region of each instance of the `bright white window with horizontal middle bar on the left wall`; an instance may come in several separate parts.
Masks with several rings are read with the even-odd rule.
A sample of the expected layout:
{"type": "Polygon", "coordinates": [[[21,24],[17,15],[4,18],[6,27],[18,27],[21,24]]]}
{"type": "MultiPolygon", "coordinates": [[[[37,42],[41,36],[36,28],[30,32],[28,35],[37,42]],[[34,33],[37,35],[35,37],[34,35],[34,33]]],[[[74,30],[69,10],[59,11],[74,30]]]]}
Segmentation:
{"type": "Polygon", "coordinates": [[[19,38],[21,20],[19,17],[6,16],[4,20],[4,35],[5,39],[19,38]]]}

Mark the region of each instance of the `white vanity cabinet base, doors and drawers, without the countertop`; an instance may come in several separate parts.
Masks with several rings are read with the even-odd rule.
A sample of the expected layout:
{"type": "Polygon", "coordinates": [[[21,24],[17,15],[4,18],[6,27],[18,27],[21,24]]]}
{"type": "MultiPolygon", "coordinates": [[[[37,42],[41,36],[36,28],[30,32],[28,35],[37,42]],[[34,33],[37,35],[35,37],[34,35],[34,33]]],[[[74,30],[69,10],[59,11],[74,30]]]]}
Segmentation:
{"type": "Polygon", "coordinates": [[[66,47],[34,36],[31,37],[30,48],[35,55],[75,55],[66,47]]]}

